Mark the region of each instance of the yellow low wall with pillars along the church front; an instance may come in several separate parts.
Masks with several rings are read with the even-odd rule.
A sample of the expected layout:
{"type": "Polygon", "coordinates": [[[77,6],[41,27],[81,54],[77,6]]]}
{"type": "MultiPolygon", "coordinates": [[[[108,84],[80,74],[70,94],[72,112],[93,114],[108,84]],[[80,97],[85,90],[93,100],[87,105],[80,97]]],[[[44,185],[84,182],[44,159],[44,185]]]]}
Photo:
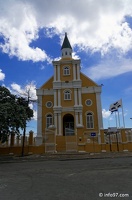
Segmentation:
{"type": "MultiPolygon", "coordinates": [[[[50,141],[55,145],[55,151],[53,152],[122,152],[132,151],[132,141],[127,140],[127,134],[125,130],[121,130],[122,142],[113,142],[112,144],[106,144],[104,130],[100,132],[101,143],[98,143],[97,138],[87,138],[86,135],[78,134],[77,136],[56,136],[50,141]]],[[[50,138],[50,137],[49,137],[50,138]]],[[[16,140],[14,135],[5,144],[0,143],[0,155],[14,154],[20,156],[22,154],[23,138],[16,140]]],[[[48,143],[47,143],[48,144],[48,143]]],[[[46,151],[48,152],[48,151],[46,151]]],[[[36,146],[33,132],[29,133],[29,137],[26,137],[24,144],[24,155],[28,154],[44,154],[44,143],[40,146],[36,146]]]]}

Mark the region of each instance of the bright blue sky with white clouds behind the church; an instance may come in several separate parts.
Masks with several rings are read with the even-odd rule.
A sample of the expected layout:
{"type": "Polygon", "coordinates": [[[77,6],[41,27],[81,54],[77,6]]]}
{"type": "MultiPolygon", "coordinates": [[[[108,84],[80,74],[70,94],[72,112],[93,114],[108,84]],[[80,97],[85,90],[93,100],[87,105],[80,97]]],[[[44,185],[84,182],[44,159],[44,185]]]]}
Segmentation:
{"type": "MultiPolygon", "coordinates": [[[[115,126],[110,104],[122,99],[132,127],[131,0],[0,0],[0,84],[13,93],[35,89],[53,75],[65,32],[81,71],[102,86],[104,128],[115,126]]],[[[34,119],[27,130],[36,133],[34,119]]],[[[122,109],[119,109],[120,123],[122,109]]]]}

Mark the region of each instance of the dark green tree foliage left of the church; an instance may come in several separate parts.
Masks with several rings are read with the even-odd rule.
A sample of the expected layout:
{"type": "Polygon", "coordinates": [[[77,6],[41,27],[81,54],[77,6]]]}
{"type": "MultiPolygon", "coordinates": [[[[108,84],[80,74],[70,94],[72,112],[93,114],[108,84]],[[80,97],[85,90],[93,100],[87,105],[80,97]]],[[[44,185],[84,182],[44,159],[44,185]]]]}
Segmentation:
{"type": "Polygon", "coordinates": [[[33,117],[33,110],[29,108],[29,99],[17,97],[0,86],[0,140],[7,141],[13,132],[19,134],[20,129],[26,127],[26,121],[33,117]]]}

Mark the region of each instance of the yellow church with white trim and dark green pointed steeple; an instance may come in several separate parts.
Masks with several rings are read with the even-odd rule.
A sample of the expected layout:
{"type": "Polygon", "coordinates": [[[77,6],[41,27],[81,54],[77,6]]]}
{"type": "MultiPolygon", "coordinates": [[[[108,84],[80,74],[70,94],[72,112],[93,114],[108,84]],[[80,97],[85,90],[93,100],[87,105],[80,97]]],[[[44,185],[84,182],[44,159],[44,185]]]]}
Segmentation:
{"type": "Polygon", "coordinates": [[[36,143],[46,141],[48,129],[55,138],[76,136],[77,142],[81,142],[84,136],[96,136],[99,142],[103,128],[102,87],[81,72],[81,60],[72,58],[67,33],[61,46],[61,59],[52,64],[53,76],[37,89],[36,143]]]}

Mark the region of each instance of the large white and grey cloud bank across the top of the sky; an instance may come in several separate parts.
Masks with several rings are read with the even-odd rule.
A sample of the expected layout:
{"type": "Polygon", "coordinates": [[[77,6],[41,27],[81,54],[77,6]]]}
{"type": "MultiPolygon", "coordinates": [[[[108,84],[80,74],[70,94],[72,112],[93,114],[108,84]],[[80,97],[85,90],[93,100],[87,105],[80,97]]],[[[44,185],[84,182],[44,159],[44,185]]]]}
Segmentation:
{"type": "Polygon", "coordinates": [[[72,45],[82,50],[100,51],[112,48],[126,53],[132,48],[132,29],[126,17],[132,17],[131,0],[12,0],[0,3],[0,44],[3,52],[21,60],[49,60],[46,52],[31,47],[39,29],[47,37],[69,33],[72,45]],[[69,6],[70,5],[70,6],[69,6]]]}

